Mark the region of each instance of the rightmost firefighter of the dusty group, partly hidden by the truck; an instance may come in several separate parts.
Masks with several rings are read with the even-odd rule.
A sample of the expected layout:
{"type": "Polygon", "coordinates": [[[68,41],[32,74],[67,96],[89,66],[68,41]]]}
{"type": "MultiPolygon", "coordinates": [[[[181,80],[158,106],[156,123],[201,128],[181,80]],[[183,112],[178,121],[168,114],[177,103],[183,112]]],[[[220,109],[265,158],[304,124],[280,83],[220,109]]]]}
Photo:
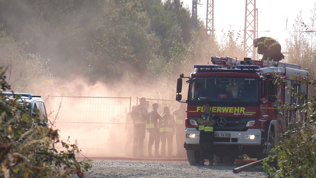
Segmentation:
{"type": "Polygon", "coordinates": [[[176,143],[177,143],[177,157],[185,157],[186,151],[184,148],[185,143],[185,123],[186,118],[186,104],[181,103],[179,108],[173,111],[173,115],[176,117],[176,143]]]}

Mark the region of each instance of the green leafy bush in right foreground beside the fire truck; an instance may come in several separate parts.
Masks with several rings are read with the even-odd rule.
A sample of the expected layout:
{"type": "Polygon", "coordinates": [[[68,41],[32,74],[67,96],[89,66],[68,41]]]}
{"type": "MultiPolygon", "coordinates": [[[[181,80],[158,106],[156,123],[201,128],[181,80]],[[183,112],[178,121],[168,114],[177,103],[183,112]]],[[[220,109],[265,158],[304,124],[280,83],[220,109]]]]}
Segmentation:
{"type": "MultiPolygon", "coordinates": [[[[304,82],[316,86],[315,80],[304,82]]],[[[292,96],[304,100],[301,104],[282,104],[283,112],[303,114],[296,114],[296,118],[292,119],[295,122],[290,122],[284,127],[286,131],[281,135],[275,148],[271,149],[275,155],[269,156],[263,162],[265,175],[267,177],[316,177],[316,98],[313,97],[307,101],[303,93],[293,92],[293,87],[288,86],[280,78],[276,80],[276,83],[287,86],[292,96]]]]}

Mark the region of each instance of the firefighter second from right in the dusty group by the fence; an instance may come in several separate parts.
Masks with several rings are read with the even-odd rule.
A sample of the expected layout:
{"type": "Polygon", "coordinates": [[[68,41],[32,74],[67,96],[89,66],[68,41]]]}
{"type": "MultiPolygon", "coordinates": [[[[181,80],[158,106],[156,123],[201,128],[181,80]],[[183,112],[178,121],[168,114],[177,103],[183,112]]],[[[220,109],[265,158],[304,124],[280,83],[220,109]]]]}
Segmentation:
{"type": "Polygon", "coordinates": [[[174,116],[170,113],[169,107],[163,108],[163,115],[159,120],[159,132],[161,140],[161,156],[166,156],[166,139],[168,142],[168,156],[172,156],[173,135],[175,134],[174,116]]]}

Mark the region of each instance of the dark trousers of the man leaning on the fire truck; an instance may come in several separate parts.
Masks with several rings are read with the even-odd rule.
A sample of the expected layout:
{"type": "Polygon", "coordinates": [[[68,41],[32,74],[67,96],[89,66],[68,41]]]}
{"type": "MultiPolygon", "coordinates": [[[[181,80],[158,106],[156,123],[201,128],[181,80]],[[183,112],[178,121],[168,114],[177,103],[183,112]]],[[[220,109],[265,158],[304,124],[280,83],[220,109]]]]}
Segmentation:
{"type": "Polygon", "coordinates": [[[208,159],[210,163],[214,162],[214,132],[200,131],[200,156],[201,162],[204,162],[205,152],[209,153],[208,159]],[[204,149],[203,149],[204,148],[204,149]]]}

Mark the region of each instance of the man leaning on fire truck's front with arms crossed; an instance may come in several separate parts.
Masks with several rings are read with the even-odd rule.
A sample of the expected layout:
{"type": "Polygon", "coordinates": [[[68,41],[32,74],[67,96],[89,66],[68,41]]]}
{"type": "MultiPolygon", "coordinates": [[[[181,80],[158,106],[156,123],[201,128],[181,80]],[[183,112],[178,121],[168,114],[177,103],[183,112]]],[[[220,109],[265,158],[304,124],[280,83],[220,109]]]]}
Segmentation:
{"type": "Polygon", "coordinates": [[[201,115],[201,118],[198,119],[199,127],[198,130],[200,130],[200,140],[199,140],[199,146],[200,146],[200,162],[197,164],[198,166],[204,166],[204,158],[206,155],[208,155],[209,159],[209,166],[213,166],[214,163],[214,114],[210,112],[210,105],[204,104],[203,105],[203,114],[201,115]]]}

